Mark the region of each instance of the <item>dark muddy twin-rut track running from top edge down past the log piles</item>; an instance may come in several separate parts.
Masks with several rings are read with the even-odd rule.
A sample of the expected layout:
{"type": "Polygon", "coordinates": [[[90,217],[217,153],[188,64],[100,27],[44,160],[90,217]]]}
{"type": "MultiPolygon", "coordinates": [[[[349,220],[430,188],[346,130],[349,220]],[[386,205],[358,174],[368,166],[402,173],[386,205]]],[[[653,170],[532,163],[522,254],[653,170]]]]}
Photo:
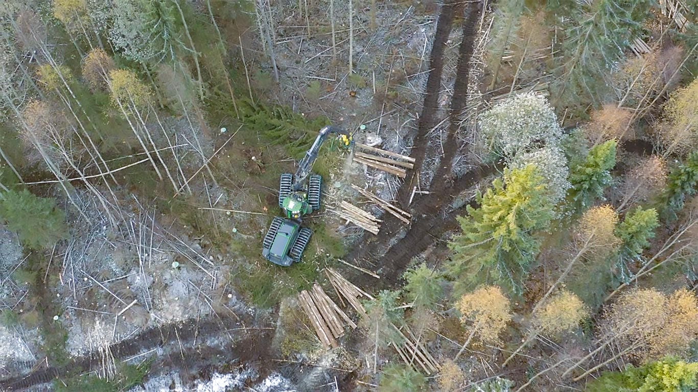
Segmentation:
{"type": "MultiPolygon", "coordinates": [[[[402,206],[406,206],[408,198],[413,189],[413,183],[417,180],[417,173],[422,168],[422,163],[426,158],[426,134],[433,128],[434,114],[438,110],[436,107],[436,97],[440,86],[441,73],[443,70],[443,45],[445,38],[450,34],[453,14],[455,11],[453,3],[445,4],[439,16],[431,52],[431,68],[429,79],[426,84],[424,105],[422,116],[419,119],[419,134],[415,137],[415,149],[411,156],[415,158],[415,169],[408,176],[406,181],[398,191],[398,200],[402,206]],[[444,37],[445,36],[445,37],[444,37]]],[[[456,133],[459,130],[461,114],[466,107],[468,93],[468,76],[470,73],[470,59],[473,56],[473,48],[477,33],[477,20],[482,12],[482,3],[466,4],[466,18],[463,20],[463,36],[459,47],[459,59],[456,66],[456,81],[454,82],[454,93],[451,98],[449,128],[447,140],[443,145],[443,155],[440,164],[433,176],[429,194],[419,198],[415,202],[412,210],[413,223],[406,234],[398,239],[392,246],[396,236],[403,232],[404,227],[401,222],[392,216],[385,216],[380,231],[380,236],[371,243],[362,243],[355,248],[349,258],[355,262],[361,259],[371,258],[371,255],[383,255],[380,259],[382,267],[380,285],[389,286],[394,284],[401,277],[402,271],[413,257],[426,250],[435,239],[440,239],[444,232],[457,227],[455,216],[459,210],[444,211],[449,205],[452,197],[455,197],[463,190],[475,185],[477,181],[493,174],[501,169],[499,165],[480,165],[475,167],[460,179],[453,179],[450,174],[451,163],[458,144],[456,133]]],[[[362,280],[363,278],[359,278],[362,280]]],[[[371,282],[375,285],[375,282],[371,282]]]]}

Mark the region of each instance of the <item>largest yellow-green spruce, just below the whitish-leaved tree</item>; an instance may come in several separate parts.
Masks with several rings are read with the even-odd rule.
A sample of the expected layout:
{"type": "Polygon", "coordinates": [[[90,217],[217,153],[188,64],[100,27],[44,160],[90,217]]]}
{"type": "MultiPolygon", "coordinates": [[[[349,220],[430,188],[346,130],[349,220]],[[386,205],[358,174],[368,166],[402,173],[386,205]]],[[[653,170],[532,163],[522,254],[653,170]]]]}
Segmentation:
{"type": "Polygon", "coordinates": [[[477,202],[479,208],[468,206],[468,216],[458,218],[463,233],[448,244],[453,251],[448,270],[456,278],[456,291],[496,283],[520,292],[540,249],[534,233],[546,229],[554,217],[547,184],[533,165],[507,169],[504,179],[477,195],[477,202]]]}

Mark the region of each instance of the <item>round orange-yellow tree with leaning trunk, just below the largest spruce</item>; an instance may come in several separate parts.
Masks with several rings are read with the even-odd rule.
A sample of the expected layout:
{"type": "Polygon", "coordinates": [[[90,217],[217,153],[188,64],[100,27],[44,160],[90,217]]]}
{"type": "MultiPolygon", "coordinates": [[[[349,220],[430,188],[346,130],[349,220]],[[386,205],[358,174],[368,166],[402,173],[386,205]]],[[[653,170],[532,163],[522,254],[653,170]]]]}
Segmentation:
{"type": "Polygon", "coordinates": [[[509,299],[497,286],[480,287],[470,294],[463,295],[456,308],[461,312],[461,322],[469,324],[470,335],[454,361],[463,354],[463,350],[476,335],[482,342],[498,342],[499,333],[512,319],[509,299]]]}

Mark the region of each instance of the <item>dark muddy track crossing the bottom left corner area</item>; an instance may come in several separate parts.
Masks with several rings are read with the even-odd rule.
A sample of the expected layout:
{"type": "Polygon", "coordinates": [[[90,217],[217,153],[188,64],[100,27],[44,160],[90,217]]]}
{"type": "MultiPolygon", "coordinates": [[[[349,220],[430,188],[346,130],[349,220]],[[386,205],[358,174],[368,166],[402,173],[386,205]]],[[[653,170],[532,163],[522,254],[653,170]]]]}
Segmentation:
{"type": "MultiPolygon", "coordinates": [[[[110,351],[115,359],[125,360],[140,353],[153,349],[161,349],[152,368],[159,370],[177,369],[186,376],[198,378],[198,373],[211,366],[237,362],[249,365],[258,363],[258,372],[265,377],[269,366],[269,341],[272,329],[245,328],[244,325],[254,324],[253,317],[247,316],[245,322],[236,322],[235,326],[227,328],[221,319],[195,320],[168,324],[152,328],[133,338],[121,340],[110,345],[110,351]],[[252,333],[234,333],[235,329],[242,331],[253,330],[252,333]],[[227,336],[228,338],[225,338],[227,336]],[[211,344],[211,340],[220,344],[211,344]]],[[[232,323],[231,323],[232,324],[232,323]]],[[[101,368],[100,353],[92,352],[70,360],[62,366],[39,368],[25,375],[0,379],[0,391],[21,391],[39,384],[52,382],[54,379],[73,377],[76,375],[101,368]]],[[[160,373],[159,371],[158,373],[160,373]]]]}

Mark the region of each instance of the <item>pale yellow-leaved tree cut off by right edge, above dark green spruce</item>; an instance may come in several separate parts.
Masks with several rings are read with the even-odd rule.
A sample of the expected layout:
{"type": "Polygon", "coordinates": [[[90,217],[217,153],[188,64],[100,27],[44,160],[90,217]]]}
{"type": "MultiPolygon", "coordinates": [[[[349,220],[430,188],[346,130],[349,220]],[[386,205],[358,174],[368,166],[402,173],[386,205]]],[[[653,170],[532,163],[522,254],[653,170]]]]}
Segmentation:
{"type": "Polygon", "coordinates": [[[664,124],[660,138],[664,156],[698,149],[698,77],[688,86],[677,89],[664,105],[664,124]]]}

